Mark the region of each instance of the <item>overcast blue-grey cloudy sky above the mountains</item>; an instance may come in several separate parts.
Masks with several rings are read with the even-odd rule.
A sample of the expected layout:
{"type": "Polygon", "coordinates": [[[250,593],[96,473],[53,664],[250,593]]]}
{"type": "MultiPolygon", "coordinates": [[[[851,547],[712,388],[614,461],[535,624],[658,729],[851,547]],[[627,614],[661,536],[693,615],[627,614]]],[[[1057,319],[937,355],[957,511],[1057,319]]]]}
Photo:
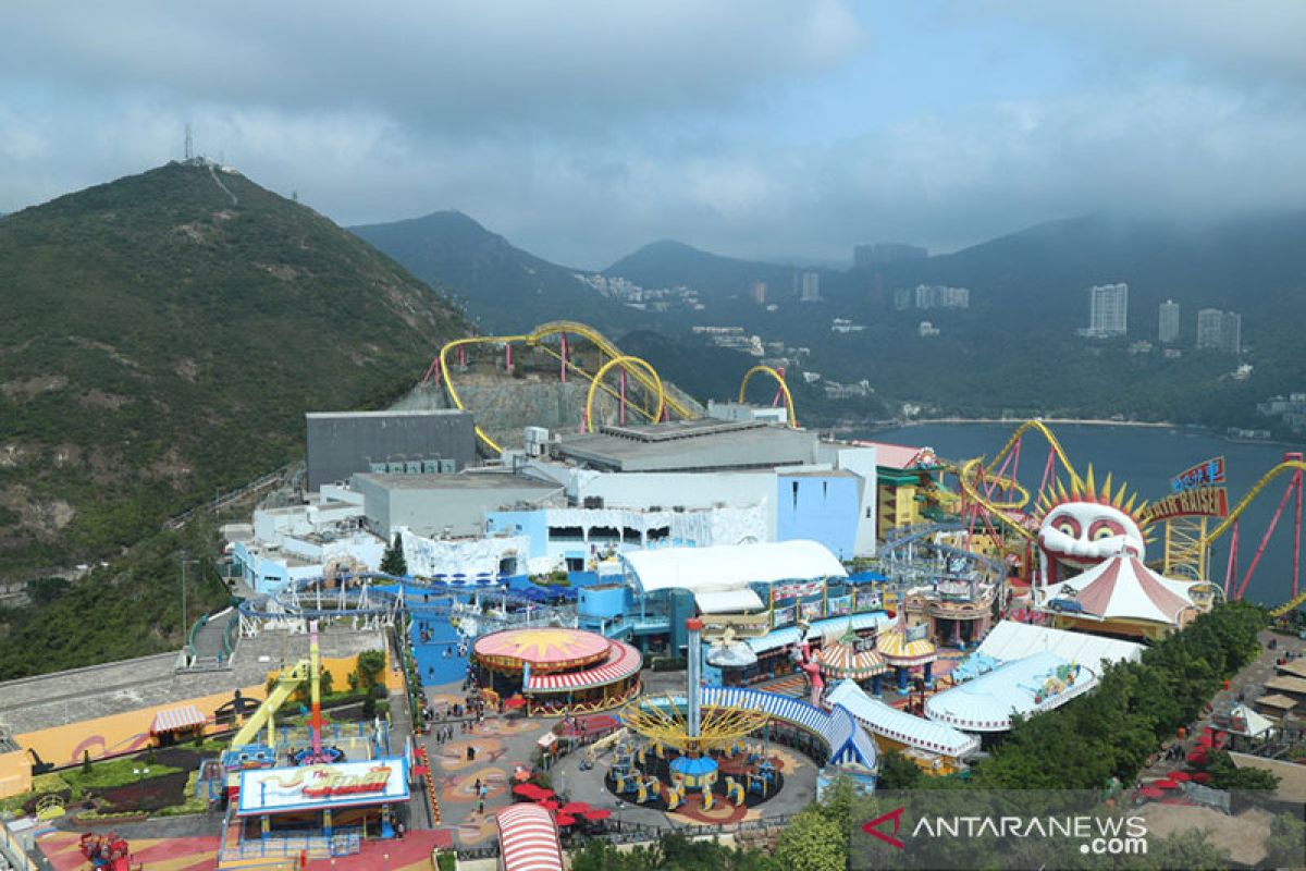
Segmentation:
{"type": "Polygon", "coordinates": [[[0,212],[197,151],[599,268],[1306,206],[1301,0],[0,4],[0,212]]]}

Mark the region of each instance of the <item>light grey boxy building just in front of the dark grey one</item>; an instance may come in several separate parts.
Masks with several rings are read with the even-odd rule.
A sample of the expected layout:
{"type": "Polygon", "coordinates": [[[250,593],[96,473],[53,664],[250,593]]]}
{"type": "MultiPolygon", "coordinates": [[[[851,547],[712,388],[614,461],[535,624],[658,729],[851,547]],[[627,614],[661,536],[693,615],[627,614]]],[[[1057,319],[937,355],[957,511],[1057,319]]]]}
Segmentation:
{"type": "Polygon", "coordinates": [[[396,526],[426,537],[485,534],[485,515],[502,508],[537,508],[564,501],[563,488],[509,471],[457,475],[355,474],[368,528],[389,541],[396,526]]]}

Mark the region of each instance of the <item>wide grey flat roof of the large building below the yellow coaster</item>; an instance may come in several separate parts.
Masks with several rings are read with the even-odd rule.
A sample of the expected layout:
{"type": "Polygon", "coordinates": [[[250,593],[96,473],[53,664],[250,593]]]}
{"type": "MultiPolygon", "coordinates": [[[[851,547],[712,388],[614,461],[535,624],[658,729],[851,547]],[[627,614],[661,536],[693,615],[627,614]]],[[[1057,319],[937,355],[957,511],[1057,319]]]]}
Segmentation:
{"type": "Polygon", "coordinates": [[[761,469],[811,462],[816,434],[756,420],[699,418],[645,426],[599,427],[563,436],[555,453],[613,471],[761,469]]]}

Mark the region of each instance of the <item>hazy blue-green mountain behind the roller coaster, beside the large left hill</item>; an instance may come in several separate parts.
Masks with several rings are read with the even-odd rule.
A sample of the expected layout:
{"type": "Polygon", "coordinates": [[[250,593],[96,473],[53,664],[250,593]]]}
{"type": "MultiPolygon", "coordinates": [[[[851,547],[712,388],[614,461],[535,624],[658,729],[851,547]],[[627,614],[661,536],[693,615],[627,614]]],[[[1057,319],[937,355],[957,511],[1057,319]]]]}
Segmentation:
{"type": "Polygon", "coordinates": [[[461,212],[350,230],[414,276],[454,293],[483,332],[517,332],[563,319],[613,329],[637,320],[636,312],[577,278],[577,270],[515,247],[461,212]]]}

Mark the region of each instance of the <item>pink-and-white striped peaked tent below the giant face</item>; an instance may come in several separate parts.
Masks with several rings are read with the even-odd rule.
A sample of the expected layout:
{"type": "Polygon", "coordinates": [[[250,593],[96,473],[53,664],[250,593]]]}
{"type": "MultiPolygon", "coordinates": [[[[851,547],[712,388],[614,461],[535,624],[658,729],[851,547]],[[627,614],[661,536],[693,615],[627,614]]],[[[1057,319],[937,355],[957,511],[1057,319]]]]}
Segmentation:
{"type": "Polygon", "coordinates": [[[1054,599],[1074,601],[1077,609],[1063,609],[1071,616],[1083,612],[1100,620],[1155,620],[1174,626],[1186,609],[1196,607],[1190,593],[1194,585],[1162,577],[1136,556],[1121,555],[1068,581],[1051,584],[1043,592],[1042,605],[1055,611],[1054,599]]]}

